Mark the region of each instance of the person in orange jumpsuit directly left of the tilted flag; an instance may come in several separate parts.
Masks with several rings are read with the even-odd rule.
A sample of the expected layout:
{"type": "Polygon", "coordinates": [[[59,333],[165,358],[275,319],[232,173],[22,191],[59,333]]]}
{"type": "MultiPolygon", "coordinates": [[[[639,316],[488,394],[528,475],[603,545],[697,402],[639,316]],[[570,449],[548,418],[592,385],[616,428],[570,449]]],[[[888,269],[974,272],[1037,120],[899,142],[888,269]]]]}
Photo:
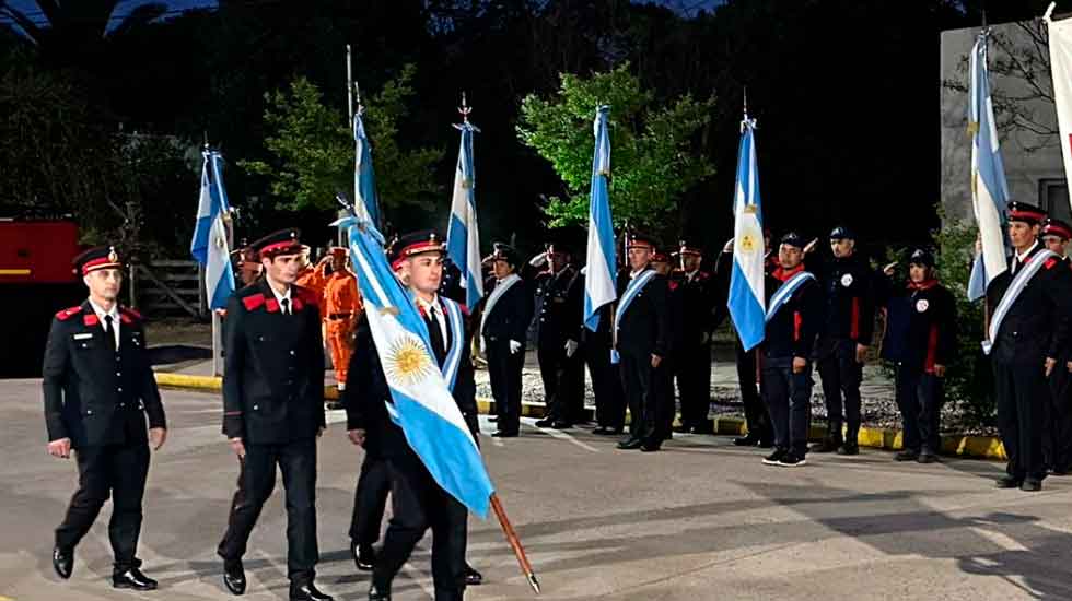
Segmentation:
{"type": "Polygon", "coordinates": [[[324,338],[331,352],[339,390],[346,390],[353,325],[361,315],[361,295],[358,293],[357,278],[347,269],[346,249],[333,248],[329,256],[331,274],[324,285],[324,338]]]}

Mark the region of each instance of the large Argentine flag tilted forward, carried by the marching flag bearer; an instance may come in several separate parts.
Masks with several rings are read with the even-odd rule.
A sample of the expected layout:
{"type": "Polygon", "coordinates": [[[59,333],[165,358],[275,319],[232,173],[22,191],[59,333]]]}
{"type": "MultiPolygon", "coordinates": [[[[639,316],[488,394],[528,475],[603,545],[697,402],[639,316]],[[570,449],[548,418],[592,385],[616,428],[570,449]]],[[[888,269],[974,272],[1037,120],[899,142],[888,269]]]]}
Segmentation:
{"type": "MultiPolygon", "coordinates": [[[[470,511],[487,517],[494,487],[430,351],[428,327],[409,291],[387,267],[383,237],[368,222],[357,223],[350,219],[337,225],[349,229],[350,260],[391,388],[387,411],[435,482],[470,511]]],[[[455,327],[453,331],[461,331],[461,323],[455,327]]]]}

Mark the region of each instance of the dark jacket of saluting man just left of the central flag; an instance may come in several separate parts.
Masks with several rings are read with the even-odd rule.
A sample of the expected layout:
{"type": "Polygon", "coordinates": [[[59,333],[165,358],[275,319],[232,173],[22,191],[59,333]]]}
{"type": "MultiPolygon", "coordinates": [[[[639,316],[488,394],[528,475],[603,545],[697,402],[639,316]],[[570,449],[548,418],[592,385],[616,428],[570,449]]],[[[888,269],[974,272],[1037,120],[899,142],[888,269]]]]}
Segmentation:
{"type": "Polygon", "coordinates": [[[536,310],[533,323],[536,342],[541,347],[561,349],[567,340],[578,340],[578,326],[584,319],[584,292],[576,294],[578,281],[583,282],[583,279],[573,266],[567,266],[558,273],[545,271],[534,280],[536,310]]]}

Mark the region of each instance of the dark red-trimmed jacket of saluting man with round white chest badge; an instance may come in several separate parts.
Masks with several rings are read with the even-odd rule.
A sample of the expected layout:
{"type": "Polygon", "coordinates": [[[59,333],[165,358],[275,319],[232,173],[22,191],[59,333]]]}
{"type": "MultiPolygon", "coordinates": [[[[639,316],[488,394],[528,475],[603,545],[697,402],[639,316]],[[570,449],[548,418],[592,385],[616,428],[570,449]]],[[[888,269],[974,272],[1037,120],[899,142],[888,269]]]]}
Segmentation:
{"type": "Polygon", "coordinates": [[[949,365],[956,352],[953,294],[937,280],[909,282],[897,290],[888,278],[877,283],[876,294],[887,314],[883,358],[927,374],[933,374],[935,365],[949,365]]]}

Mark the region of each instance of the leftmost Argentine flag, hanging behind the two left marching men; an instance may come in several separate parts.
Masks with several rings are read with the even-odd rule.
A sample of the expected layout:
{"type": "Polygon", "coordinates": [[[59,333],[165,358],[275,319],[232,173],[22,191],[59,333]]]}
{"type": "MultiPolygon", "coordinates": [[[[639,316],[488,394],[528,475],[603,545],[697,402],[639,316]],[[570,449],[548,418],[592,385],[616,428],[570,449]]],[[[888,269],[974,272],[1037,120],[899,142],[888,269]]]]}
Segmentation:
{"type": "Polygon", "coordinates": [[[234,271],[231,269],[228,229],[223,215],[228,212],[228,193],[223,189],[223,155],[205,151],[201,166],[201,198],[197,203],[197,225],[190,241],[190,254],[205,268],[205,290],[209,308],[222,309],[234,292],[234,271]]]}

